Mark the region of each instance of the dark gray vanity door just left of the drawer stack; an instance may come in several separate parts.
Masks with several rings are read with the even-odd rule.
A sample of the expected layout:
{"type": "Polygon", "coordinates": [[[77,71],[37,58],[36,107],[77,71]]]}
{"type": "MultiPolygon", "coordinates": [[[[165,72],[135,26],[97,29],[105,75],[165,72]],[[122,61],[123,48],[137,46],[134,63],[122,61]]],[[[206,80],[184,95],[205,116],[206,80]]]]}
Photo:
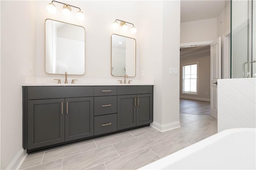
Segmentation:
{"type": "Polygon", "coordinates": [[[93,97],[65,99],[65,141],[93,136],[93,97]]]}

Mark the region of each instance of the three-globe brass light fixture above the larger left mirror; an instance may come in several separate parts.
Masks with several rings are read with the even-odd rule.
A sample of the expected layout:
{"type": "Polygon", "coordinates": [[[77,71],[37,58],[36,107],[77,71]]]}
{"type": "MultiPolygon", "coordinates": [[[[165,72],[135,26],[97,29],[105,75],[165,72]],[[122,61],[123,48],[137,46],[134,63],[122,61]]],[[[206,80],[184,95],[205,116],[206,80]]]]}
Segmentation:
{"type": "MultiPolygon", "coordinates": [[[[53,4],[53,2],[64,4],[63,10],[62,10],[63,15],[65,15],[65,16],[70,16],[71,15],[71,6],[72,5],[65,4],[65,3],[62,3],[62,2],[58,2],[58,1],[55,1],[55,0],[53,0],[51,3],[49,3],[47,5],[48,12],[50,12],[51,14],[56,14],[57,9],[56,9],[56,6],[53,4]]],[[[72,6],[72,7],[78,8],[76,6],[72,6]]],[[[78,18],[78,20],[84,20],[84,13],[81,11],[80,8],[78,8],[78,9],[79,9],[79,11],[76,13],[76,17],[78,18]]]]}

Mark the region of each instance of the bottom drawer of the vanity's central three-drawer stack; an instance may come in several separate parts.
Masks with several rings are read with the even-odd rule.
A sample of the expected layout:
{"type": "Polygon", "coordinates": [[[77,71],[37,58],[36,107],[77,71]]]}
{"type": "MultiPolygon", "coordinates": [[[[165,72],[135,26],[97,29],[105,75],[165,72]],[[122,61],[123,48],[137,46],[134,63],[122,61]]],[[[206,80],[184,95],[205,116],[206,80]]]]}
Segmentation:
{"type": "Polygon", "coordinates": [[[114,132],[117,130],[116,114],[94,117],[94,135],[114,132]]]}

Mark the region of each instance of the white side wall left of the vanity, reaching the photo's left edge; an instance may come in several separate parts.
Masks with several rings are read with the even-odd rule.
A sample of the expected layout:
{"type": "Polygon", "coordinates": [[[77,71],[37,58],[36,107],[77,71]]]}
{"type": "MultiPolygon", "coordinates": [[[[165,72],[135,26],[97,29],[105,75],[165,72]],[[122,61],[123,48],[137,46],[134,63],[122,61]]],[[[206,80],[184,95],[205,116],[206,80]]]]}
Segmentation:
{"type": "Polygon", "coordinates": [[[33,1],[1,1],[1,169],[22,151],[22,74],[34,75],[33,1]],[[7,17],[8,16],[8,17],[7,17]]]}

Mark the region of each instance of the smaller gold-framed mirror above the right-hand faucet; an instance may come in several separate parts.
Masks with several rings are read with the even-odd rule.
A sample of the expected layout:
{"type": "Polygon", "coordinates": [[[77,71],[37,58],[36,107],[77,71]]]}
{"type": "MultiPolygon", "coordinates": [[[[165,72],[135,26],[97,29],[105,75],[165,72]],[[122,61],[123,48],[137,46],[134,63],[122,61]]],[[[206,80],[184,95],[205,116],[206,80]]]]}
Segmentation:
{"type": "Polygon", "coordinates": [[[135,77],[136,40],[117,34],[111,36],[111,75],[135,77]]]}

